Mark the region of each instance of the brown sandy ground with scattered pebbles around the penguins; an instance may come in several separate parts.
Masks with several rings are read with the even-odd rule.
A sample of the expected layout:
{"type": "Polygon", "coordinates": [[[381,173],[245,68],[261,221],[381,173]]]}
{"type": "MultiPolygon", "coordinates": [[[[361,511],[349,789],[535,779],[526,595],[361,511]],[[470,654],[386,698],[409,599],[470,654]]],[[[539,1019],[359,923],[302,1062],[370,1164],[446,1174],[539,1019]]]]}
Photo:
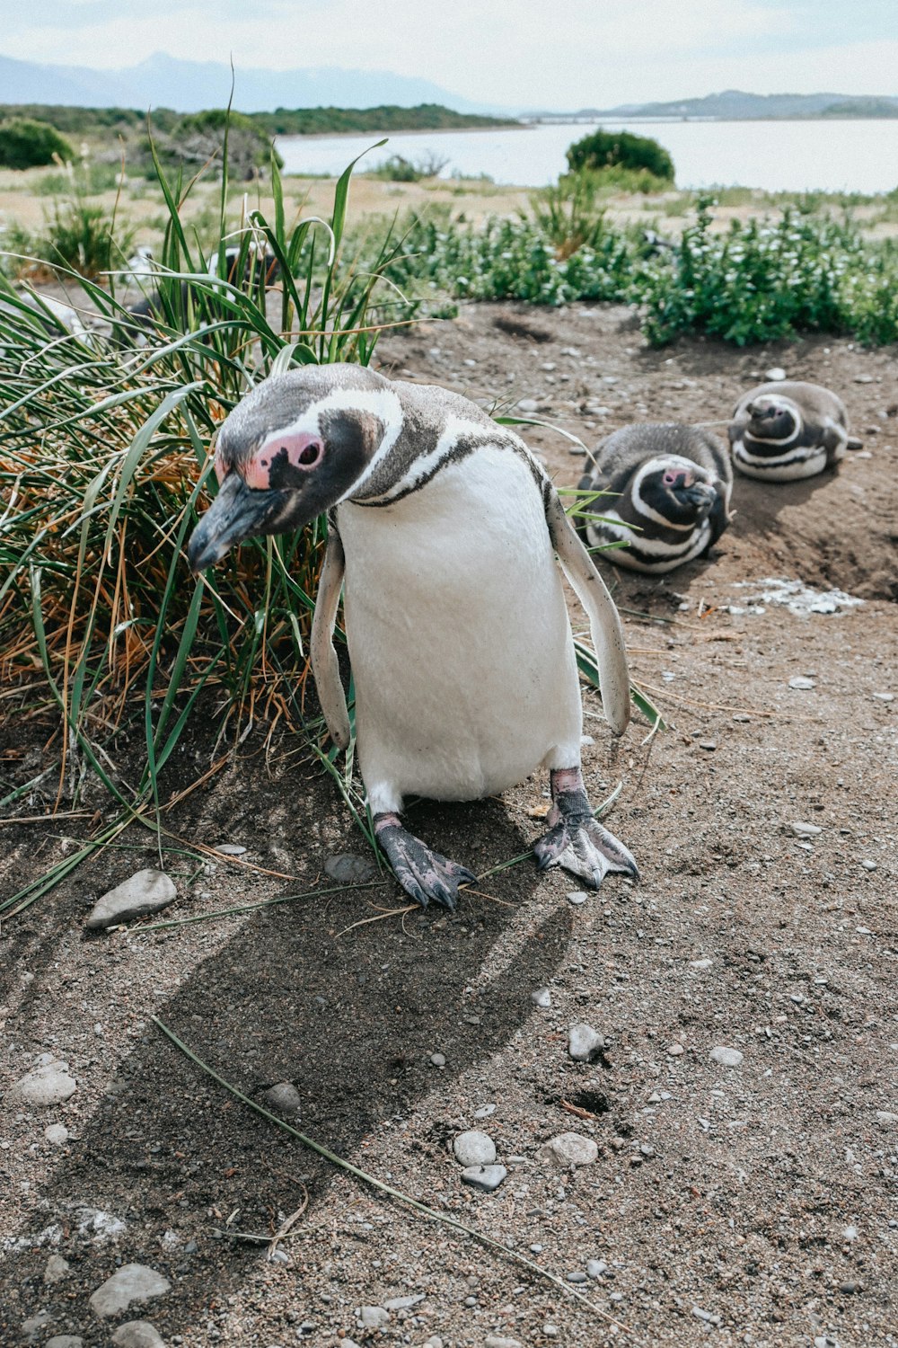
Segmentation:
{"type": "MultiPolygon", "coordinates": [[[[58,1107],[0,1101],[4,1344],[38,1316],[38,1344],[108,1344],[117,1321],[88,1298],[129,1262],[172,1286],[118,1320],[140,1316],[190,1348],[898,1339],[894,350],[813,340],[652,352],[623,309],[517,311],[545,340],[508,336],[497,313],[393,337],[382,367],[475,398],[533,398],[594,442],[631,419],[726,418],[777,364],[836,388],[866,448],[805,484],[738,480],[715,555],[666,580],[603,565],[634,678],[668,718],[648,740],[637,716],[613,747],[584,692],[588,787],[598,801],[622,782],[609,822],[641,886],[610,878],[575,906],[578,884],[528,860],[482,880],[451,918],[400,915],[386,882],[89,934],[94,898],[152,864],[145,838],[128,836],[135,851],[106,851],[0,930],[0,1085],[42,1053],[77,1080],[58,1107]],[[801,616],[758,599],[767,578],[863,604],[801,616]],[[797,836],[796,822],[820,832],[797,836]],[[537,988],[551,1007],[534,1004],[537,988]],[[602,1260],[599,1277],[569,1283],[590,1305],[338,1173],[229,1097],[151,1015],[253,1097],[293,1082],[311,1136],[509,1251],[561,1279],[602,1260]],[[568,1057],[578,1022],[606,1039],[592,1065],[568,1057]],[[740,1065],[715,1062],[715,1047],[740,1065]],[[69,1130],[65,1144],[46,1139],[51,1124],[69,1130]],[[463,1186],[451,1155],[473,1126],[509,1171],[491,1194],[463,1186]],[[543,1143],[571,1131],[596,1159],[547,1163],[543,1143]],[[272,1235],[306,1193],[285,1263],[233,1239],[272,1235]],[[47,1285],[51,1254],[70,1268],[47,1285]],[[394,1298],[420,1299],[389,1309],[394,1298]],[[361,1306],[386,1308],[366,1317],[382,1326],[366,1328],[361,1306]]],[[[565,441],[526,435],[560,484],[578,479],[565,441]]],[[[48,732],[13,714],[3,735],[8,789],[34,775],[48,732]]],[[[179,892],[166,918],[333,888],[324,859],[364,851],[295,749],[281,741],[267,763],[249,740],[174,811],[182,837],[248,852],[201,874],[170,855],[179,892]]],[[[211,752],[198,727],[167,790],[211,752]]],[[[482,872],[539,836],[545,789],[536,778],[478,805],[421,803],[409,820],[482,872]]],[[[106,809],[89,786],[94,806],[106,809]]],[[[89,822],[5,825],[3,892],[89,822]]]]}

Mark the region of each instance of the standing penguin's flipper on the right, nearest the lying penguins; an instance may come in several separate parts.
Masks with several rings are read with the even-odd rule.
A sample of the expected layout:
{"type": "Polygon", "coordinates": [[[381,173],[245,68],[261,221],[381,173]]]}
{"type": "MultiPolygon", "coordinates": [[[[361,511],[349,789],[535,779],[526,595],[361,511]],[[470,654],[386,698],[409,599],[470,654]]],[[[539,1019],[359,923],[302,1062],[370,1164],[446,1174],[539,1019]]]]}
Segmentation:
{"type": "Polygon", "coordinates": [[[545,522],[561,569],[590,619],[605,718],[615,735],[623,735],[630,723],[630,671],[621,619],[605,581],[551,484],[547,484],[545,522]]]}

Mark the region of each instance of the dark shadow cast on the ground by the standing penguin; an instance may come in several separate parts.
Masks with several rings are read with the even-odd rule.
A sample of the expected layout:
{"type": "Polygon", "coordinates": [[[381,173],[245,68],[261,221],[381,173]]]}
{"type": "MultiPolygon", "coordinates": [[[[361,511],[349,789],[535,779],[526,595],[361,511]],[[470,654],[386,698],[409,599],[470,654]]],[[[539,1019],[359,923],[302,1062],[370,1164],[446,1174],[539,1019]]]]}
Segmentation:
{"type": "MultiPolygon", "coordinates": [[[[300,834],[324,810],[335,813],[330,783],[310,783],[296,809],[300,834]]],[[[478,872],[528,847],[501,801],[450,809],[421,802],[409,824],[478,872]]],[[[351,826],[329,851],[341,848],[362,851],[351,826]]],[[[318,860],[310,857],[310,876],[318,860]]],[[[155,1010],[252,1099],[275,1082],[292,1082],[299,1097],[293,1126],[357,1163],[362,1140],[384,1120],[407,1117],[428,1093],[443,1092],[439,1138],[415,1143],[434,1158],[419,1155],[416,1163],[432,1170],[440,1165],[434,1148],[444,1146],[443,1123],[470,1119],[483,1103],[454,1093],[459,1077],[506,1045],[533,1014],[532,989],[551,981],[565,956],[571,918],[547,888],[536,930],[510,961],[497,953],[493,977],[487,968],[478,979],[541,883],[536,865],[521,863],[482,883],[490,898],[466,895],[455,915],[432,907],[403,914],[392,882],[314,906],[261,909],[155,1010]],[[431,1062],[438,1053],[442,1069],[431,1062]]],[[[291,890],[314,887],[312,879],[291,890]]],[[[116,958],[139,961],[145,942],[170,949],[176,967],[179,942],[198,929],[143,938],[137,930],[116,958]]],[[[98,961],[110,957],[102,948],[109,937],[83,940],[97,945],[98,961]]],[[[198,953],[202,958],[202,944],[194,941],[191,958],[198,953]]],[[[382,1170],[376,1148],[369,1155],[362,1153],[361,1165],[382,1170]]],[[[39,1192],[32,1188],[31,1213],[18,1235],[62,1220],[73,1204],[116,1215],[125,1231],[114,1244],[97,1244],[69,1235],[66,1224],[55,1252],[71,1263],[73,1278],[58,1286],[42,1282],[47,1247],[9,1254],[5,1279],[19,1289],[16,1314],[24,1320],[50,1310],[47,1333],[106,1343],[109,1325],[96,1320],[88,1297],[116,1262],[145,1263],[172,1283],[147,1310],[168,1341],[202,1322],[202,1308],[223,1304],[265,1259],[264,1244],[221,1235],[232,1215],[238,1213],[236,1231],[273,1233],[279,1212],[296,1211],[307,1190],[314,1215],[334,1184],[347,1188],[347,1201],[357,1193],[355,1181],[233,1099],[147,1019],[94,1115],[75,1130],[48,1181],[39,1192]]]]}

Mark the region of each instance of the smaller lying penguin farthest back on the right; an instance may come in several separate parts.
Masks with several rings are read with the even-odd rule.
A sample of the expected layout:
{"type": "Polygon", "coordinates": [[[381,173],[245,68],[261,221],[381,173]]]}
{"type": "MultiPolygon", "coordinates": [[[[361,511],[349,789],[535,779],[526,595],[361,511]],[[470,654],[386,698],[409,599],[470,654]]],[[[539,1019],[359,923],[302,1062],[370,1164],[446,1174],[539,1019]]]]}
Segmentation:
{"type": "Polygon", "coordinates": [[[813,477],[862,448],[848,435],[840,398],[820,384],[789,381],[761,384],[740,399],[730,443],[739,472],[767,483],[813,477]]]}

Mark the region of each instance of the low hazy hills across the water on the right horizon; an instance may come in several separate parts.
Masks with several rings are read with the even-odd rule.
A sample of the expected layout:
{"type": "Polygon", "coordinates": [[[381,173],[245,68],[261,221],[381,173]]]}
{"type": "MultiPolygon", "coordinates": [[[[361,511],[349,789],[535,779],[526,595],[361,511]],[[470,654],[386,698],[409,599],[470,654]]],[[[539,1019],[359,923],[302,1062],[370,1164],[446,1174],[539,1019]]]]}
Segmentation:
{"type": "MultiPolygon", "coordinates": [[[[563,113],[534,113],[536,117],[561,119],[563,113]]],[[[844,93],[743,93],[726,89],[704,98],[681,98],[676,102],[625,102],[617,108],[582,108],[571,116],[599,117],[707,117],[715,121],[754,121],[767,117],[898,117],[898,98],[859,97],[844,93]]]]}

